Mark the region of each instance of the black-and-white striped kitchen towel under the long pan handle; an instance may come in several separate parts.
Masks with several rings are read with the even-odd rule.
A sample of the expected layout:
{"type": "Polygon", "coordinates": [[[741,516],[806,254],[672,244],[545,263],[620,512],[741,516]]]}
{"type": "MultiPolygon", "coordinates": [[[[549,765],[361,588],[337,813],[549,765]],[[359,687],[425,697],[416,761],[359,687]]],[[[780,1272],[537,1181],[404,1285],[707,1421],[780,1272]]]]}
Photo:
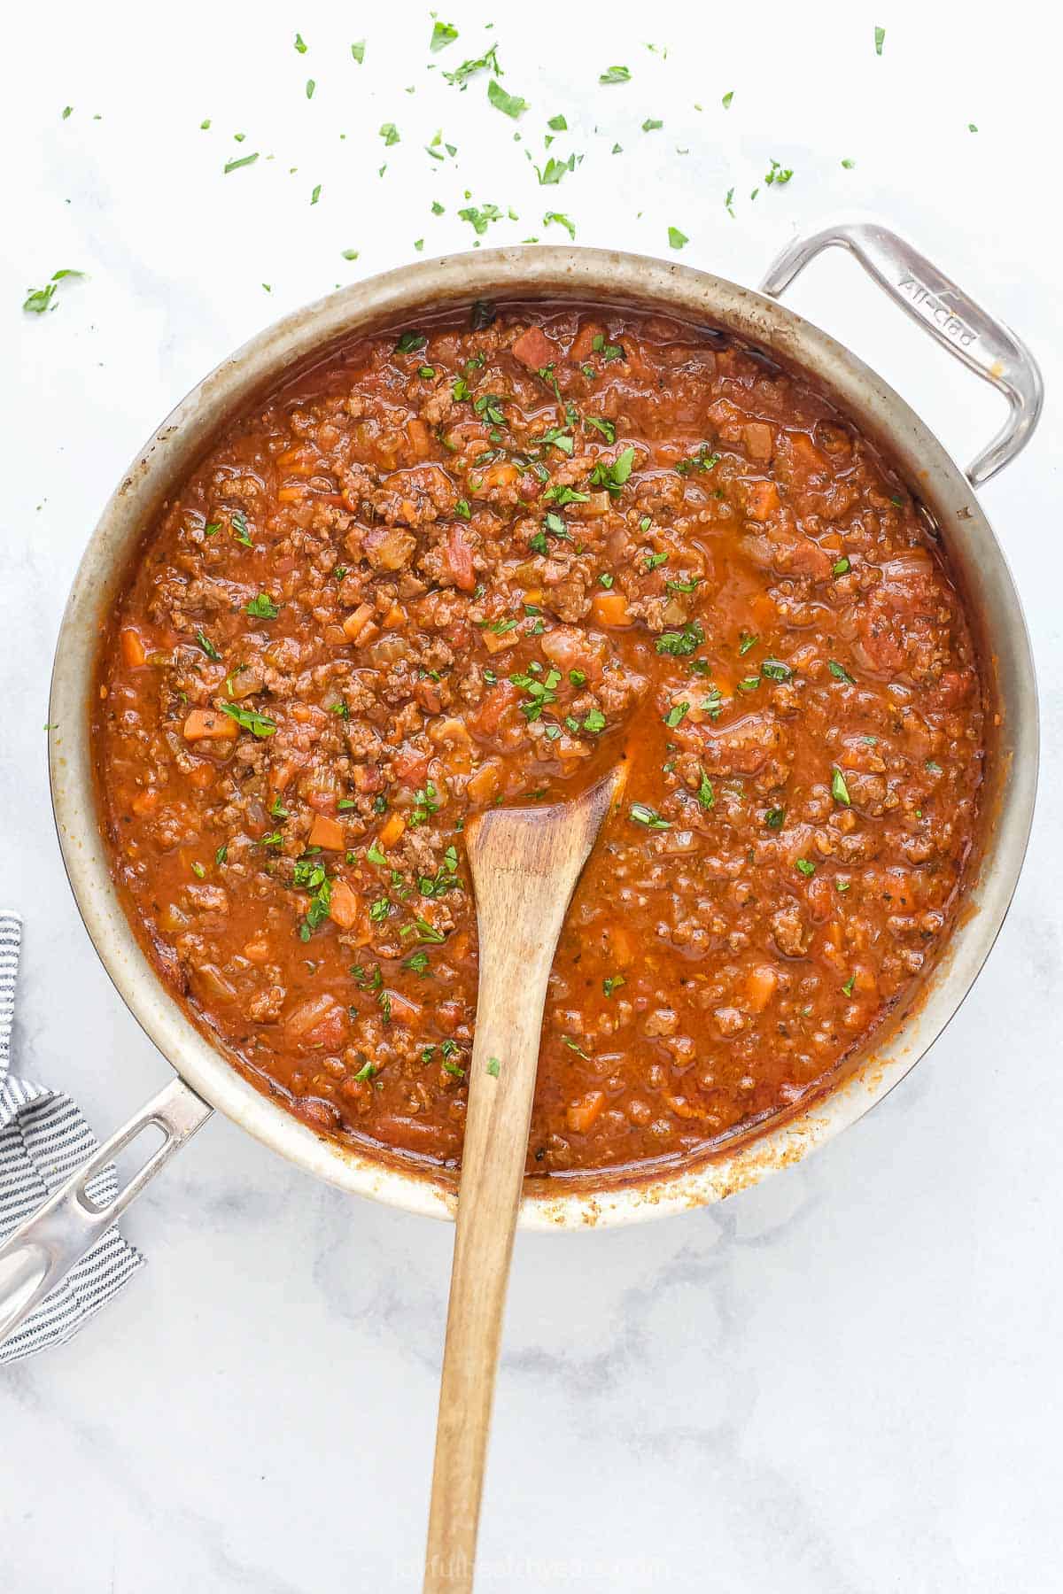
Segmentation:
{"type": "MultiPolygon", "coordinates": [[[[10,1073],[14,980],[19,971],[22,921],[0,909],[0,1240],[92,1156],[99,1141],[67,1095],[10,1073]]],[[[118,1192],[113,1164],[86,1186],[97,1200],[118,1192]]],[[[11,1339],[0,1363],[18,1361],[46,1345],[61,1345],[121,1290],[143,1262],[118,1229],[108,1229],[91,1251],[45,1296],[11,1339]]]]}

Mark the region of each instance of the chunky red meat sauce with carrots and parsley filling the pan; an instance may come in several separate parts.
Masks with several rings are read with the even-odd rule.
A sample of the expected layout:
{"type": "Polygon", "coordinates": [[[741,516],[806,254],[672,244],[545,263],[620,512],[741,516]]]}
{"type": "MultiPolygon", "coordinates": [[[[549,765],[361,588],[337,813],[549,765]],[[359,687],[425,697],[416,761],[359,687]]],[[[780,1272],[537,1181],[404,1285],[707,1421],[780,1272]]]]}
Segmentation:
{"type": "MultiPolygon", "coordinates": [[[[528,1170],[794,1108],[948,936],[982,689],[905,489],[808,386],[637,312],[473,306],[239,419],[100,644],[99,800],[161,977],[296,1117],[461,1160],[462,830],[625,762],[528,1170]]],[[[502,1060],[504,1066],[504,1060],[502,1060]]]]}

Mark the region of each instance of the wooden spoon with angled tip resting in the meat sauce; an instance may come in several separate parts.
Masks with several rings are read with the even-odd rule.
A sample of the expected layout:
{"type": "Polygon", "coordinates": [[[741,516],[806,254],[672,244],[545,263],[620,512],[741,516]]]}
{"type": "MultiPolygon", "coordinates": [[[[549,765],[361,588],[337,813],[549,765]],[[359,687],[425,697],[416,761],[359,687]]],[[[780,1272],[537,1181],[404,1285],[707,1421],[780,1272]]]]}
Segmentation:
{"type": "Polygon", "coordinates": [[[465,850],[480,993],[457,1194],[424,1594],[469,1594],[502,1312],[524,1180],[542,1009],[561,925],[623,773],[577,802],[499,808],[465,850]]]}

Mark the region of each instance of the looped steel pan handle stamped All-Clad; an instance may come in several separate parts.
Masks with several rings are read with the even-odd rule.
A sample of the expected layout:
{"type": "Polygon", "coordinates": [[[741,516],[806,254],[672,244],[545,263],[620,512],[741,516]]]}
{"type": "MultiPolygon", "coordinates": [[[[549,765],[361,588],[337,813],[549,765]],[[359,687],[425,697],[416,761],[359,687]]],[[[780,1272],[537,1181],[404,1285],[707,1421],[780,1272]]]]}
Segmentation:
{"type": "Polygon", "coordinates": [[[1007,421],[967,467],[971,486],[982,486],[1026,446],[1041,418],[1044,384],[1033,354],[918,249],[877,222],[840,222],[795,239],[768,266],[760,292],[778,298],[810,260],[835,244],[856,255],[913,320],[1007,398],[1007,421]]]}

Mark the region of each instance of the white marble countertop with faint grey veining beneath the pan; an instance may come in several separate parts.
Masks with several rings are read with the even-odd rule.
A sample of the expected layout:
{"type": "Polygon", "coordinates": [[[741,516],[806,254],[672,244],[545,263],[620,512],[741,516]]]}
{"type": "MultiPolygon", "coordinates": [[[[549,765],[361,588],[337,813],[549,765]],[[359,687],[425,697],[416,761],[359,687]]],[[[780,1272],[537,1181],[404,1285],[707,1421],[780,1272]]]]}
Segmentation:
{"type": "MultiPolygon", "coordinates": [[[[668,253],[677,226],[682,260],[741,282],[798,230],[870,209],[1044,367],[1041,432],[983,491],[1041,676],[1026,870],[945,1038],[813,1160],[668,1223],[520,1239],[480,1586],[1057,1589],[1060,16],[1028,0],[1006,18],[770,0],[716,18],[660,0],[649,40],[666,57],[626,0],[571,6],[564,26],[504,5],[440,16],[461,40],[438,56],[427,10],[322,0],[185,0],[166,16],[56,0],[8,27],[0,897],[25,915],[19,1071],[69,1089],[97,1132],[167,1074],[76,917],[41,727],[84,539],[172,403],[282,311],[419,258],[416,239],[426,257],[467,247],[467,202],[520,212],[486,242],[543,234],[547,209],[572,217],[579,242],[645,252],[668,253]],[[441,81],[492,38],[507,89],[531,100],[523,142],[486,78],[465,94],[441,81]],[[631,81],[601,88],[614,62],[631,81]],[[555,153],[585,161],[540,188],[526,150],[542,159],[558,112],[571,132],[555,153]],[[665,128],[642,132],[644,118],[665,128]],[[384,121],[398,145],[384,148],[384,121]],[[437,128],[454,159],[424,153],[437,128]],[[773,158],[794,179],[765,190],[773,158]],[[57,268],[88,279],[61,282],[54,314],[22,314],[27,284],[57,268]]],[[[790,303],[958,456],[998,424],[998,397],[843,257],[790,303]]],[[[449,1231],[314,1184],[220,1121],[124,1229],[150,1266],[73,1344],[0,1377],[0,1586],[419,1588],[449,1231]]]]}

